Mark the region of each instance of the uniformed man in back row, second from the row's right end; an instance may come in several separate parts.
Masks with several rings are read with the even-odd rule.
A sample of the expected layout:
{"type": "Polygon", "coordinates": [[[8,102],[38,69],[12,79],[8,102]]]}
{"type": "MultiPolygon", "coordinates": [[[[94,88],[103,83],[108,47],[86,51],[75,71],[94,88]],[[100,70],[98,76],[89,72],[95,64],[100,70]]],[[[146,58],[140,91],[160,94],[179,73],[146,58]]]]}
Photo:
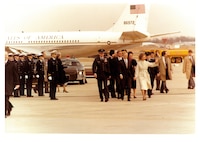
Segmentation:
{"type": "Polygon", "coordinates": [[[27,54],[27,61],[26,61],[26,69],[25,69],[25,79],[26,79],[26,89],[27,89],[27,97],[32,96],[32,82],[34,76],[34,62],[33,56],[31,53],[27,54]]]}

